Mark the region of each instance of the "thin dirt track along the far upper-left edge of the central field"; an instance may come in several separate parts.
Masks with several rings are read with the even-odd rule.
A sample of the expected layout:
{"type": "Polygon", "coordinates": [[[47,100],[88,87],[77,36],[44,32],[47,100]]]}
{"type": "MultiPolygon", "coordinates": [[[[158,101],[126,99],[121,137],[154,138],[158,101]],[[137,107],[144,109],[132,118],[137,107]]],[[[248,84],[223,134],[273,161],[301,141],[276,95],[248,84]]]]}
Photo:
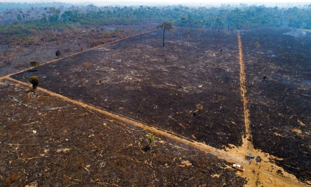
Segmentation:
{"type": "MultiPolygon", "coordinates": [[[[92,48],[87,49],[87,50],[82,50],[82,51],[79,51],[79,52],[77,52],[77,53],[73,53],[73,54],[71,54],[71,55],[64,56],[64,57],[62,57],[62,58],[58,58],[58,59],[54,59],[54,60],[51,60],[51,61],[42,63],[42,64],[40,64],[39,66],[45,65],[45,64],[49,64],[49,63],[51,63],[51,62],[55,62],[55,61],[57,61],[57,60],[61,60],[61,59],[64,59],[64,58],[67,58],[67,57],[70,57],[70,56],[73,56],[73,55],[77,55],[77,54],[79,54],[79,53],[83,53],[83,52],[88,51],[88,50],[93,50],[93,49],[96,49],[96,48],[101,47],[101,46],[105,46],[105,45],[108,45],[108,44],[111,44],[111,43],[114,43],[114,42],[117,42],[117,41],[125,40],[125,39],[127,39],[127,38],[131,38],[131,37],[134,37],[134,36],[139,36],[139,35],[146,34],[146,33],[148,33],[148,32],[153,32],[153,31],[156,31],[156,30],[158,30],[158,29],[155,29],[155,30],[152,30],[152,31],[147,31],[147,32],[144,32],[144,33],[139,33],[139,34],[132,35],[132,36],[128,36],[128,37],[125,37],[125,38],[122,38],[122,39],[119,39],[119,40],[111,41],[111,42],[106,43],[106,44],[102,44],[102,45],[99,45],[99,46],[95,46],[95,47],[92,47],[92,48]]],[[[11,73],[11,74],[7,74],[7,75],[5,75],[5,76],[0,77],[0,80],[5,79],[5,78],[7,78],[7,77],[9,77],[9,76],[12,76],[12,75],[15,75],[15,74],[18,74],[18,73],[27,71],[27,70],[34,69],[34,68],[36,68],[36,67],[30,67],[30,68],[27,68],[27,69],[24,69],[24,70],[16,71],[16,72],[11,73]]]]}

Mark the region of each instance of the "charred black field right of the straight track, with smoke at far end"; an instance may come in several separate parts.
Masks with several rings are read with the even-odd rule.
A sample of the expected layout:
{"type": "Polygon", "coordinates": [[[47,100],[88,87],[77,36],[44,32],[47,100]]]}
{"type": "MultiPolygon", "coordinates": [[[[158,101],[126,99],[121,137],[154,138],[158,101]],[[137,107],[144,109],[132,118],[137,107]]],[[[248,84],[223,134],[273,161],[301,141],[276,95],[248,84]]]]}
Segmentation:
{"type": "Polygon", "coordinates": [[[299,180],[310,181],[311,34],[260,29],[241,37],[254,147],[283,159],[279,165],[299,180]]]}

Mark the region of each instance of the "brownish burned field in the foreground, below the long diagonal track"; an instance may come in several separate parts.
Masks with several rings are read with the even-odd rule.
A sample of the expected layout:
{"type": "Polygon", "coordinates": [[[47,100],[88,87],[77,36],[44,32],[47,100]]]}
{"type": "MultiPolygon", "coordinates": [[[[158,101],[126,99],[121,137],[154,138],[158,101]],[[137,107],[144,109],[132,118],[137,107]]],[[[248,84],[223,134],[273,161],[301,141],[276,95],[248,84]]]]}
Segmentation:
{"type": "Polygon", "coordinates": [[[242,186],[229,163],[29,87],[0,83],[5,186],[242,186]]]}

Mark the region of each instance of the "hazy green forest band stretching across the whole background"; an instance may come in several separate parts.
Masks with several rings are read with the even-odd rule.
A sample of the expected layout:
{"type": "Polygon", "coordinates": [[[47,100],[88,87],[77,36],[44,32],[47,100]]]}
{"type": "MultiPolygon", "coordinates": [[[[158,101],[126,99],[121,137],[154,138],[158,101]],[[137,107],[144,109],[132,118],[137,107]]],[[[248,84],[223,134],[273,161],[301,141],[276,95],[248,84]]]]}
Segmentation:
{"type": "Polygon", "coordinates": [[[303,8],[265,6],[239,7],[36,7],[7,10],[0,14],[1,43],[10,43],[15,35],[24,38],[38,31],[97,28],[105,25],[133,25],[171,22],[173,26],[211,29],[250,29],[256,27],[293,27],[311,29],[311,4],[303,8]],[[26,15],[26,16],[25,16],[26,15]],[[33,15],[33,16],[32,16],[33,15]],[[28,18],[27,18],[28,17],[28,18]],[[3,23],[7,21],[6,23],[3,23]],[[13,36],[14,35],[14,36],[13,36]],[[9,37],[9,38],[7,38],[9,37]]]}

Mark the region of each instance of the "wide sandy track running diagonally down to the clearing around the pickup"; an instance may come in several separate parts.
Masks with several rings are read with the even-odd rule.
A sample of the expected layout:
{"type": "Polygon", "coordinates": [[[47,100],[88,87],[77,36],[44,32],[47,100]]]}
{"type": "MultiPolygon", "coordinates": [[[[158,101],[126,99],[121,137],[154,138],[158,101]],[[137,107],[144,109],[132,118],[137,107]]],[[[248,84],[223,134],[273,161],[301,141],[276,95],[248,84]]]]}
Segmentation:
{"type": "MultiPolygon", "coordinates": [[[[31,87],[30,84],[27,84],[27,83],[24,83],[24,82],[21,82],[21,81],[12,79],[12,78],[7,78],[7,79],[10,80],[10,81],[14,81],[14,82],[17,82],[19,84],[31,87]]],[[[88,108],[90,110],[102,113],[104,115],[107,115],[107,116],[112,117],[114,119],[117,119],[119,121],[135,125],[135,126],[140,127],[142,129],[148,130],[148,131],[150,131],[150,132],[152,132],[152,133],[154,133],[154,134],[156,134],[158,136],[166,137],[166,138],[169,138],[169,139],[171,139],[171,140],[173,140],[175,142],[179,142],[179,143],[183,143],[185,145],[192,146],[194,148],[197,148],[198,150],[204,151],[206,153],[213,154],[213,155],[215,155],[215,156],[217,156],[217,157],[219,157],[221,159],[224,159],[226,161],[238,163],[240,165],[244,165],[245,168],[246,168],[246,171],[244,173],[238,173],[238,175],[240,175],[241,177],[247,177],[247,179],[251,179],[251,180],[248,180],[248,184],[245,185],[245,186],[253,186],[253,185],[256,184],[256,181],[258,181],[258,180],[261,181],[262,184],[265,184],[265,186],[270,186],[270,185],[271,186],[283,186],[283,187],[286,187],[286,186],[290,187],[290,186],[293,186],[293,185],[305,186],[305,184],[300,183],[297,180],[295,180],[295,176],[292,176],[292,175],[289,175],[289,174],[286,174],[286,173],[284,175],[287,178],[286,181],[283,181],[284,180],[283,177],[281,177],[281,176],[279,176],[279,175],[277,175],[275,173],[273,173],[273,174],[269,173],[268,176],[270,175],[270,177],[275,182],[277,182],[277,183],[273,183],[273,185],[269,184],[270,181],[267,181],[267,179],[266,179],[267,178],[266,177],[267,174],[265,173],[266,172],[265,170],[267,168],[270,168],[270,170],[272,170],[271,165],[273,165],[273,164],[269,163],[268,160],[266,160],[266,159],[263,159],[263,162],[260,164],[260,166],[262,166],[262,169],[259,169],[261,172],[262,172],[262,170],[264,170],[265,172],[263,172],[260,175],[257,175],[256,177],[254,177],[253,173],[250,172],[250,171],[251,170],[256,170],[258,172],[258,165],[255,165],[254,162],[251,165],[247,165],[248,162],[244,160],[246,146],[241,146],[241,147],[238,147],[238,148],[230,149],[230,151],[219,150],[219,149],[216,149],[214,147],[208,146],[206,144],[203,144],[203,143],[200,143],[200,142],[196,142],[196,141],[190,140],[188,138],[179,136],[178,134],[175,134],[175,133],[172,133],[172,132],[168,132],[168,131],[165,131],[163,129],[159,129],[159,128],[156,128],[156,127],[148,126],[148,125],[143,124],[141,122],[138,122],[136,120],[133,120],[133,119],[130,119],[130,118],[126,118],[126,117],[122,117],[122,116],[116,115],[114,113],[107,112],[107,111],[105,111],[103,109],[100,109],[98,107],[91,106],[91,105],[86,104],[86,103],[82,103],[81,101],[72,100],[70,98],[64,97],[62,95],[50,92],[50,91],[42,89],[42,88],[38,88],[38,90],[40,90],[40,91],[42,91],[44,93],[48,93],[48,94],[50,94],[52,96],[61,98],[61,99],[65,100],[65,101],[68,101],[68,102],[80,105],[80,106],[82,106],[84,108],[88,108]],[[264,163],[264,162],[266,162],[266,163],[264,163]]],[[[255,154],[261,156],[262,158],[264,158],[266,156],[264,153],[261,153],[258,150],[249,150],[249,151],[253,151],[253,153],[256,152],[255,154]]],[[[276,165],[274,165],[273,167],[274,167],[273,169],[281,169],[280,167],[277,167],[276,165]]]]}

